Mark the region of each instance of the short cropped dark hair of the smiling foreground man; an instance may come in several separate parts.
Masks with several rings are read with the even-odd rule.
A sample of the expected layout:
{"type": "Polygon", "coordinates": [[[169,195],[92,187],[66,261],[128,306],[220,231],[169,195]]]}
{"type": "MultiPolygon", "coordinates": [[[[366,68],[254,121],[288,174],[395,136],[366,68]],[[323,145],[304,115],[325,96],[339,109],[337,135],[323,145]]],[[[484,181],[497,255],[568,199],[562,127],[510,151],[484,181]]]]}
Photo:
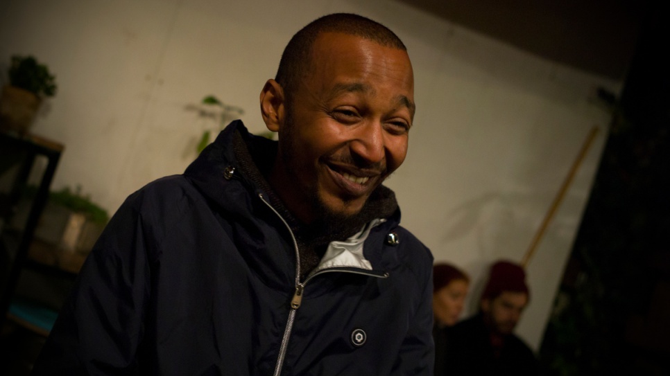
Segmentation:
{"type": "Polygon", "coordinates": [[[399,37],[386,26],[352,13],[325,15],[295,33],[284,48],[275,81],[284,89],[286,100],[298,88],[300,80],[311,71],[311,49],[321,33],[343,33],[368,39],[384,47],[407,51],[399,37]]]}

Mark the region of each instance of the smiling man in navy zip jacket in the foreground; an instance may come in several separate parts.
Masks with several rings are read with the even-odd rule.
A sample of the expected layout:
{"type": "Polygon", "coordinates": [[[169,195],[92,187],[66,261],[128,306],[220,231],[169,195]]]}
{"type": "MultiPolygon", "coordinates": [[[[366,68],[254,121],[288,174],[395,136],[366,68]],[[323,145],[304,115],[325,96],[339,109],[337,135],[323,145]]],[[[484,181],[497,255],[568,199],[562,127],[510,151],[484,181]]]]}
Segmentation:
{"type": "Polygon", "coordinates": [[[286,46],[261,116],[119,208],[35,375],[429,375],[429,250],[381,185],[414,116],[406,48],[328,15],[286,46]]]}

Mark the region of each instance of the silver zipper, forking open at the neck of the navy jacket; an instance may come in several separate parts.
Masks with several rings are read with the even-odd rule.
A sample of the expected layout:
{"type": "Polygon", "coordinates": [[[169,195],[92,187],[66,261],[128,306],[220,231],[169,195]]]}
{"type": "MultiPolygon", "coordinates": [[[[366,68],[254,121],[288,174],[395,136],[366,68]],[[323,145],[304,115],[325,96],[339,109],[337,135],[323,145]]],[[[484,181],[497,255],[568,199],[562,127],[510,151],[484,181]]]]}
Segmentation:
{"type": "Polygon", "coordinates": [[[291,231],[291,227],[289,226],[288,223],[286,223],[286,220],[284,220],[284,217],[280,215],[279,212],[273,208],[272,205],[270,205],[269,202],[266,201],[265,197],[263,197],[262,193],[258,194],[258,197],[260,197],[261,201],[270,208],[271,211],[273,211],[277,217],[284,222],[284,226],[286,226],[286,229],[289,230],[289,234],[291,234],[291,240],[293,240],[293,248],[295,249],[295,292],[293,293],[293,298],[291,298],[291,310],[289,311],[289,319],[286,321],[286,328],[284,328],[284,335],[282,336],[282,344],[280,346],[280,352],[279,355],[277,355],[277,363],[275,364],[275,373],[273,373],[273,376],[280,376],[282,373],[282,366],[284,366],[284,358],[286,357],[286,350],[289,348],[289,338],[291,337],[291,330],[293,330],[293,323],[295,322],[295,313],[298,311],[298,308],[300,308],[300,305],[302,304],[302,295],[304,294],[304,286],[307,285],[307,282],[311,280],[312,278],[318,276],[319,274],[325,274],[333,271],[341,271],[345,273],[353,273],[353,274],[362,274],[364,276],[371,276],[371,277],[377,277],[377,278],[387,278],[388,273],[386,272],[376,272],[376,271],[368,271],[366,269],[360,269],[356,267],[329,267],[327,269],[321,269],[316,272],[312,272],[305,278],[304,282],[300,282],[300,250],[298,249],[298,241],[295,240],[295,235],[293,235],[293,231],[291,231]],[[359,269],[359,270],[354,270],[354,269],[359,269]]]}

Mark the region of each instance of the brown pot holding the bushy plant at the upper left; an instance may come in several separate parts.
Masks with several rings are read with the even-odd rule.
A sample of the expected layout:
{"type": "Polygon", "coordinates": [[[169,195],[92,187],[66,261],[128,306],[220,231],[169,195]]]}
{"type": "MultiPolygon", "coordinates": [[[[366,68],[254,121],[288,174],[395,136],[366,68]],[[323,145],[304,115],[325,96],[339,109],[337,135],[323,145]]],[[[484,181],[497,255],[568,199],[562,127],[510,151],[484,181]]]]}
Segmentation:
{"type": "Polygon", "coordinates": [[[0,94],[0,128],[28,133],[41,102],[30,91],[5,85],[0,94]]]}

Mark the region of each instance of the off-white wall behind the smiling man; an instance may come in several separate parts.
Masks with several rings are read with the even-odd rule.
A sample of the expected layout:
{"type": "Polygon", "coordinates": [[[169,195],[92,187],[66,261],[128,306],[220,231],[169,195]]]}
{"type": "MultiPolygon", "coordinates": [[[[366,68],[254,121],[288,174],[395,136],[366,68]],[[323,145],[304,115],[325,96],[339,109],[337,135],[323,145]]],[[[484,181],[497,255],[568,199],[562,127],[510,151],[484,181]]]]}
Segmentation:
{"type": "Polygon", "coordinates": [[[3,0],[0,69],[16,53],[49,64],[59,91],[33,131],[66,145],[53,186],[80,184],[113,212],[194,159],[203,127],[216,127],[187,109],[203,96],[242,107],[250,130],[263,131],[258,95],[284,45],[341,11],[381,21],[409,48],[418,112],[409,156],[388,186],[404,225],[436,260],[469,272],[474,294],[492,260],[521,260],[599,127],[528,268],[533,296],[517,331],[538,348],[607,134],[608,114],[590,98],[620,82],[388,0],[3,0]]]}

